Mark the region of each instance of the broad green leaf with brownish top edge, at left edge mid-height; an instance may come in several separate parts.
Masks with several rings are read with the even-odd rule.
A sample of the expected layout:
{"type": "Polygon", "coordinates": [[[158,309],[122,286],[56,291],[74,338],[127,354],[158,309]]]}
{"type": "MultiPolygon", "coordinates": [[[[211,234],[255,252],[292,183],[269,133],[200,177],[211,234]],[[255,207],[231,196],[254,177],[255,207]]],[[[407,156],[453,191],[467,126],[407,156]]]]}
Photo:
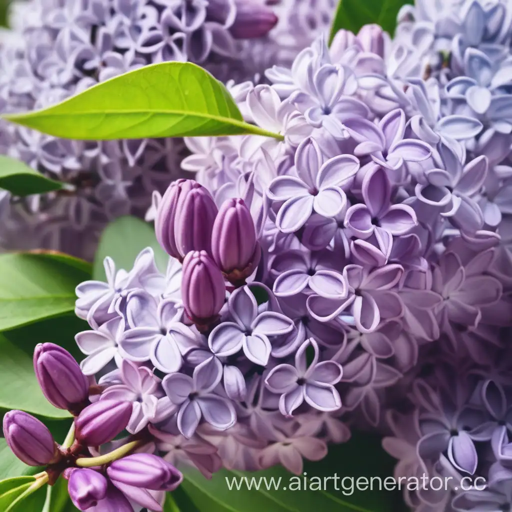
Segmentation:
{"type": "Polygon", "coordinates": [[[74,311],[87,272],[48,254],[0,255],[0,331],[74,311]]]}

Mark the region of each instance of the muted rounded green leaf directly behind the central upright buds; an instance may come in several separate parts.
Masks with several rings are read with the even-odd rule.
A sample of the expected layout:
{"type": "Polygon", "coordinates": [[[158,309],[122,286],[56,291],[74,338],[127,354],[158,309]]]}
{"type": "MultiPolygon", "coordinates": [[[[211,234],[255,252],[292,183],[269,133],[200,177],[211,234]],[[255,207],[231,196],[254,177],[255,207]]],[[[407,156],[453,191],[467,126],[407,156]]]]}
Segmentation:
{"type": "Polygon", "coordinates": [[[94,257],[93,278],[105,280],[103,260],[106,256],[114,260],[117,269],[124,268],[129,271],[139,252],[146,247],[153,248],[157,267],[165,272],[169,256],[157,242],[153,226],[137,217],[116,219],[101,234],[94,257]]]}

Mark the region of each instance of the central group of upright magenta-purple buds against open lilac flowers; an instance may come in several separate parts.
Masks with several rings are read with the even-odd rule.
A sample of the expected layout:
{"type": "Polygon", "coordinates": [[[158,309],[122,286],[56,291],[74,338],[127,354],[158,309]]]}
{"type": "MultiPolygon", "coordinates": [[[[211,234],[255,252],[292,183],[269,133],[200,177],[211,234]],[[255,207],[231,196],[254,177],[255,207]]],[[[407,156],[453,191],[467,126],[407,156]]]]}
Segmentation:
{"type": "Polygon", "coordinates": [[[181,179],[165,192],[155,220],[156,236],[182,263],[182,301],[200,332],[219,320],[228,291],[245,285],[258,267],[260,243],[243,199],[226,199],[217,208],[206,188],[181,179]]]}

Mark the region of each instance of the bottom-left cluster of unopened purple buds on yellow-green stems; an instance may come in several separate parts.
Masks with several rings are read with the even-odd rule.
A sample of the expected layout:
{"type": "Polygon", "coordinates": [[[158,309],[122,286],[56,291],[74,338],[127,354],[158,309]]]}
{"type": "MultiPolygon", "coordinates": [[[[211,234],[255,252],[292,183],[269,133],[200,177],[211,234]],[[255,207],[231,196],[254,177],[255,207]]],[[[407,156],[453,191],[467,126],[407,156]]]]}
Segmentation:
{"type": "Polygon", "coordinates": [[[23,411],[4,416],[4,435],[12,452],[30,466],[44,466],[33,483],[54,485],[62,476],[68,480],[69,495],[79,510],[89,512],[133,512],[140,507],[162,510],[165,493],[174,490],[182,474],[162,458],[137,453],[144,433],[110,443],[126,428],[133,404],[127,401],[94,402],[99,392],[90,386],[78,363],[65,349],[52,343],[39,344],[34,351],[34,370],[48,401],[74,416],[73,426],[62,445],[47,426],[23,411]],[[93,400],[91,403],[90,398],[93,400]]]}

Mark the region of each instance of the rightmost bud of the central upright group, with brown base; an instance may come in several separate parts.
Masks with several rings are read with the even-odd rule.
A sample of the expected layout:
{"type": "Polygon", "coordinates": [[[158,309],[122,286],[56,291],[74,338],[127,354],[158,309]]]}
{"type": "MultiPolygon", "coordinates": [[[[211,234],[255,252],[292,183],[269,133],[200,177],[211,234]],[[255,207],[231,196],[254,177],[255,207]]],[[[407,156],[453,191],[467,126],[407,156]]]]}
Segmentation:
{"type": "Polygon", "coordinates": [[[219,209],[211,235],[215,262],[225,273],[242,273],[250,265],[252,273],[260,261],[260,247],[251,213],[243,199],[226,199],[219,209]]]}

